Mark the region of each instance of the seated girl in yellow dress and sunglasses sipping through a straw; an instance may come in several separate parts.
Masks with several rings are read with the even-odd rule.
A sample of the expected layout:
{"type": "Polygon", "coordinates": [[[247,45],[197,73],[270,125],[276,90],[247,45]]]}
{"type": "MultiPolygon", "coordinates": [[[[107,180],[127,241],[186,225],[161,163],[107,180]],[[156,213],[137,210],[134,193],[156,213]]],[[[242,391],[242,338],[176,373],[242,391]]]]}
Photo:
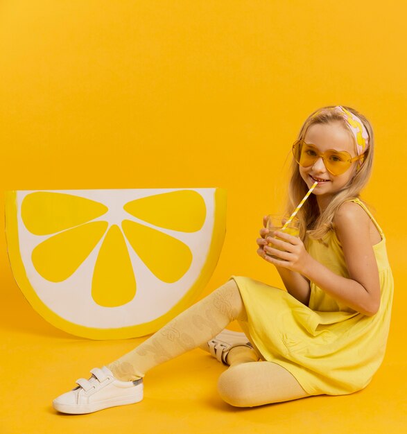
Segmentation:
{"type": "Polygon", "coordinates": [[[257,239],[257,254],[277,268],[286,290],[231,277],[139,347],[79,379],[54,408],[91,413],[141,401],[148,370],[198,346],[230,366],[218,391],[233,406],[365,388],[383,360],[393,295],[383,232],[359,199],[373,151],[372,127],[351,107],[311,114],[293,145],[288,195],[291,214],[318,182],[297,214],[300,236],[263,228],[257,239]],[[233,320],[245,334],[220,333],[233,320]]]}

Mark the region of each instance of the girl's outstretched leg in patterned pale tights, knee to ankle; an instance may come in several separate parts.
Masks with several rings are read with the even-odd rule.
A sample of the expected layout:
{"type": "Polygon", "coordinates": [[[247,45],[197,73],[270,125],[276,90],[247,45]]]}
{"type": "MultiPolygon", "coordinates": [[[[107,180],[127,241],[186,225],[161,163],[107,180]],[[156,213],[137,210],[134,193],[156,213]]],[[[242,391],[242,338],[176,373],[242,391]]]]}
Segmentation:
{"type": "Polygon", "coordinates": [[[239,288],[234,280],[227,281],[107,367],[117,379],[134,381],[152,367],[204,344],[230,322],[245,318],[239,288]]]}

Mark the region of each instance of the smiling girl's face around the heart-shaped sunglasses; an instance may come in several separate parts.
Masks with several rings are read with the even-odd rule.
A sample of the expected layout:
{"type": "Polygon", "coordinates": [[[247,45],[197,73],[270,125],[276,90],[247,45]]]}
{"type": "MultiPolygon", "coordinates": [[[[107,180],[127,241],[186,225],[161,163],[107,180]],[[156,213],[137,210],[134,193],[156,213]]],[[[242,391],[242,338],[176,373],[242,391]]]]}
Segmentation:
{"type": "MultiPolygon", "coordinates": [[[[306,131],[304,141],[307,144],[315,145],[320,153],[326,150],[346,150],[352,157],[356,157],[356,150],[352,134],[347,131],[339,121],[331,123],[315,123],[306,131]]],[[[309,167],[300,167],[300,175],[310,188],[315,181],[318,185],[313,190],[317,196],[318,205],[323,208],[334,197],[335,193],[343,189],[349,180],[356,174],[358,162],[353,162],[352,166],[342,175],[332,175],[327,171],[322,158],[309,167]]]]}

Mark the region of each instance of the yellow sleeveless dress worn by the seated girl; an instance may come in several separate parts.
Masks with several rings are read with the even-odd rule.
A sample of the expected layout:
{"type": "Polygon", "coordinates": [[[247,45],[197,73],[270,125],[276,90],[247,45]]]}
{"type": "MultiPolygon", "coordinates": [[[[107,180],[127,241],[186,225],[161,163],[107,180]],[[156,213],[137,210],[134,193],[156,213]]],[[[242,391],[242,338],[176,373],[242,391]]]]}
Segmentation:
{"type": "MultiPolygon", "coordinates": [[[[349,394],[365,388],[386,350],[394,288],[386,238],[363,202],[353,202],[365,209],[382,238],[373,246],[381,286],[381,304],[375,315],[354,311],[313,283],[309,306],[305,306],[286,290],[250,277],[230,278],[239,286],[250,338],[264,360],[286,368],[312,395],[349,394]]],[[[309,239],[306,250],[336,274],[349,277],[335,231],[323,241],[309,239]]]]}

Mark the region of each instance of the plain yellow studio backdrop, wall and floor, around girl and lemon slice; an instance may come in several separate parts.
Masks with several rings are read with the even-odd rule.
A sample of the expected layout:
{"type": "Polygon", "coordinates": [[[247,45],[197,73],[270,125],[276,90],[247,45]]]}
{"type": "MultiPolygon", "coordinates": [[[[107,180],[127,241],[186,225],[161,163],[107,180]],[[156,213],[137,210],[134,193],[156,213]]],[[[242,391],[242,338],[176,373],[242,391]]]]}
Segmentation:
{"type": "Polygon", "coordinates": [[[1,223],[5,433],[403,432],[406,9],[367,0],[0,3],[3,191],[225,188],[227,236],[202,295],[231,274],[279,286],[256,254],[261,218],[281,210],[306,116],[349,105],[374,127],[364,198],[388,238],[396,283],[388,352],[362,392],[232,409],[216,394],[223,367],[197,349],[151,372],[143,403],[64,417],[51,400],[138,341],[83,340],[44,322],[12,279],[1,223]]]}

